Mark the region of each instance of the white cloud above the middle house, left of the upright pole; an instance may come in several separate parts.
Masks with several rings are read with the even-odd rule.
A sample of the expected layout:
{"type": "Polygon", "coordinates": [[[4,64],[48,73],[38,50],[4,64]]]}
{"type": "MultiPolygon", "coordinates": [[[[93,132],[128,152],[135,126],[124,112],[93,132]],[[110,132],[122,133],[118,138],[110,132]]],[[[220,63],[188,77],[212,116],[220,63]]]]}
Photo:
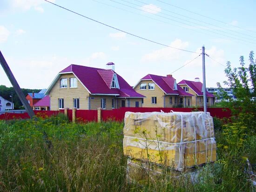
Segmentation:
{"type": "MultiPolygon", "coordinates": [[[[182,42],[182,40],[176,39],[169,46],[177,47],[180,49],[185,49],[189,46],[189,42],[182,42]]],[[[142,61],[172,61],[182,58],[182,53],[180,50],[165,47],[153,51],[142,56],[142,61]]]]}

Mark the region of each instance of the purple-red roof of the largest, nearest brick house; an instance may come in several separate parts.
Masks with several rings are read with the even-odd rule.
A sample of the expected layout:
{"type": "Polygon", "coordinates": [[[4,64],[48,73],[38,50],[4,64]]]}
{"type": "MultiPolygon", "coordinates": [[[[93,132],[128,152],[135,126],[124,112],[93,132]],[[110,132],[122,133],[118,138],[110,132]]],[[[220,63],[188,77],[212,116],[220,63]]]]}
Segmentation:
{"type": "Polygon", "coordinates": [[[71,64],[63,69],[55,77],[45,94],[48,94],[57,80],[63,73],[73,73],[81,84],[93,95],[115,95],[117,97],[139,97],[145,96],[135,92],[135,90],[117,73],[111,69],[100,69],[88,66],[71,64]],[[111,88],[114,73],[117,76],[120,89],[111,88]]]}

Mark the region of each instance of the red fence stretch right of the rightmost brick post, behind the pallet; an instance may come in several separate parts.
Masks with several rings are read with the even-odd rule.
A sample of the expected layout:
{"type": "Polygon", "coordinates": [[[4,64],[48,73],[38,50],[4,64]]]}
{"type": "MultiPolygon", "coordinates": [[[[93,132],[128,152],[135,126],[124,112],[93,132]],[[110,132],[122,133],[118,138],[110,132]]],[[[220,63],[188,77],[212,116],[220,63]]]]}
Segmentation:
{"type": "MultiPolygon", "coordinates": [[[[108,119],[114,119],[122,121],[124,119],[125,112],[165,112],[169,113],[171,110],[174,112],[192,112],[195,110],[203,111],[203,108],[160,108],[160,107],[121,107],[120,109],[103,110],[102,119],[106,121],[108,119]]],[[[208,108],[207,111],[213,117],[217,118],[229,118],[231,111],[228,108],[208,108]]]]}

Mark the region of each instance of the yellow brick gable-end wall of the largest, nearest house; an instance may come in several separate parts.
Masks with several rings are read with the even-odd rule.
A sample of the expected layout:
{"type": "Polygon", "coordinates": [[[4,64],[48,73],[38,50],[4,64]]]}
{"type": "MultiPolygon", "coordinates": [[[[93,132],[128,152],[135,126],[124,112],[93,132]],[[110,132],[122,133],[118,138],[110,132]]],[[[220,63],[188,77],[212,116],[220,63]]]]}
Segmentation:
{"type": "Polygon", "coordinates": [[[61,74],[61,77],[50,91],[51,110],[59,110],[58,99],[62,98],[64,99],[64,108],[72,109],[73,99],[79,98],[80,109],[88,109],[88,91],[79,80],[77,80],[77,88],[69,88],[69,78],[75,78],[74,74],[61,74]],[[61,78],[67,78],[67,88],[60,88],[61,78]]]}

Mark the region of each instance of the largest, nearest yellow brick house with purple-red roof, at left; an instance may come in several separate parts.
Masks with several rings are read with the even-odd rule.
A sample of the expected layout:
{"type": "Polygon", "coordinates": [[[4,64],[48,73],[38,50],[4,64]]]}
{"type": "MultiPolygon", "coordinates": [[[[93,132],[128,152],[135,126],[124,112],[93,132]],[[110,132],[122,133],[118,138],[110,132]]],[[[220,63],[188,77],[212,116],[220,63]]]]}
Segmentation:
{"type": "Polygon", "coordinates": [[[112,69],[73,64],[63,69],[45,93],[50,97],[51,110],[141,107],[144,96],[115,73],[114,63],[107,66],[112,69]]]}

